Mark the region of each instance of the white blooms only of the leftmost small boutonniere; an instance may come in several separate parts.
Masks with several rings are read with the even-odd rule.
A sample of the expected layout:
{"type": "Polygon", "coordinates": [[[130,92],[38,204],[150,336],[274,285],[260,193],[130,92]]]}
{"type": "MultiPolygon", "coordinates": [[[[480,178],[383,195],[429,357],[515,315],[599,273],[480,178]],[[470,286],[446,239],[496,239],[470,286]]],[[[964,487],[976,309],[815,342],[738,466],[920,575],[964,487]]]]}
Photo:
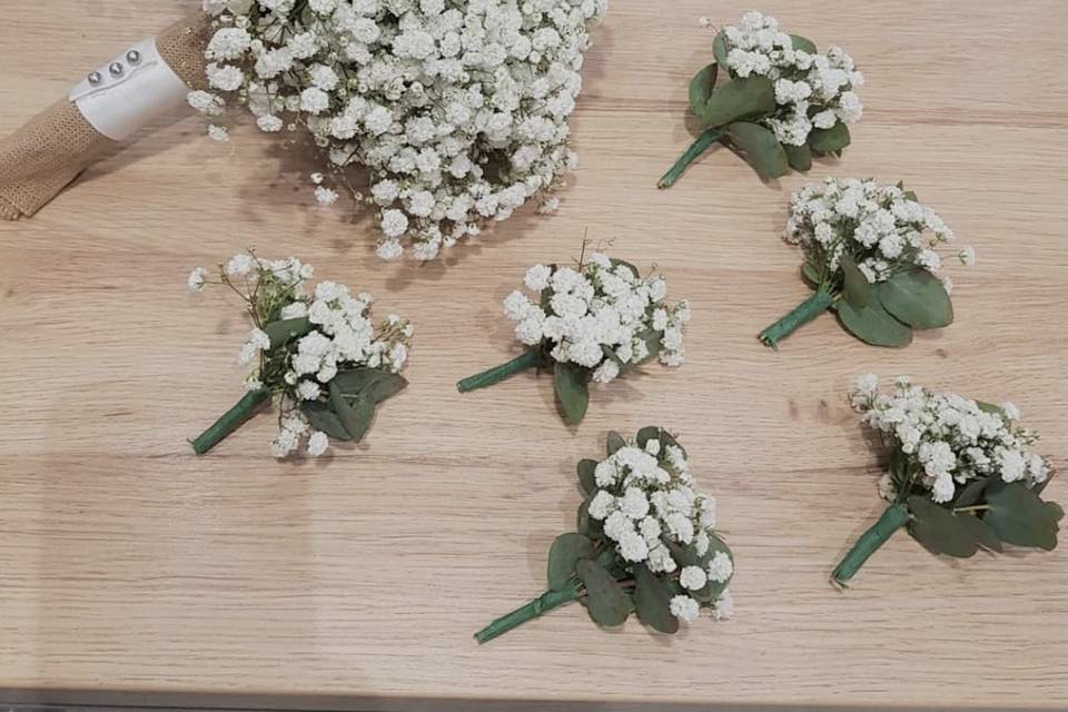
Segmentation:
{"type": "MultiPolygon", "coordinates": [[[[188,286],[200,291],[207,270],[194,269],[188,286]]],[[[276,457],[286,457],[307,436],[308,453],[326,452],[325,433],[313,431],[300,409],[305,400],[326,397],[325,386],[346,368],[369,367],[399,373],[408,358],[412,324],[396,315],[377,328],[368,318],[374,298],[353,296],[344,285],[320,281],[308,295],[305,281],[314,269],[296,257],[265,260],[251,253],[234,256],[219,269],[221,284],[247,289],[249,312],[257,322],[238,353],[238,363],[253,370],[248,390],[266,388],[281,395],[279,431],[271,443],[276,457]],[[284,346],[271,347],[261,327],[275,320],[307,318],[310,330],[284,346]]]]}

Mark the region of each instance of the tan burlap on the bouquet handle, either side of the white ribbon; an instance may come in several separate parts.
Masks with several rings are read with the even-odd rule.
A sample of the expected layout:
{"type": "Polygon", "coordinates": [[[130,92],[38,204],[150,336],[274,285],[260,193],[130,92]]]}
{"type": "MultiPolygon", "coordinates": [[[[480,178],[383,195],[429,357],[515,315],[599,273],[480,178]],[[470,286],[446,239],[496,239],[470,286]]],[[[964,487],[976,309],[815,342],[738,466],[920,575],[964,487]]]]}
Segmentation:
{"type": "MultiPolygon", "coordinates": [[[[156,36],[160,57],[192,89],[206,83],[204,57],[211,28],[197,13],[156,36]]],[[[75,103],[62,99],[0,139],[0,218],[30,217],[117,146],[75,103]]]]}

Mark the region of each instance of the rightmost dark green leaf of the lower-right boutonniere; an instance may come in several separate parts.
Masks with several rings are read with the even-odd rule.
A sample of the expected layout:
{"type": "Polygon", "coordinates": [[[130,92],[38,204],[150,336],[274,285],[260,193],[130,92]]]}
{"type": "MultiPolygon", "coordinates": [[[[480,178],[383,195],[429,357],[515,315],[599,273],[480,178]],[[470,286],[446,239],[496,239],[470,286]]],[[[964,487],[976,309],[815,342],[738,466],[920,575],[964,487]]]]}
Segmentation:
{"type": "Polygon", "coordinates": [[[991,482],[982,521],[1001,541],[1017,546],[1057,547],[1058,512],[1020,482],[991,482]]]}

